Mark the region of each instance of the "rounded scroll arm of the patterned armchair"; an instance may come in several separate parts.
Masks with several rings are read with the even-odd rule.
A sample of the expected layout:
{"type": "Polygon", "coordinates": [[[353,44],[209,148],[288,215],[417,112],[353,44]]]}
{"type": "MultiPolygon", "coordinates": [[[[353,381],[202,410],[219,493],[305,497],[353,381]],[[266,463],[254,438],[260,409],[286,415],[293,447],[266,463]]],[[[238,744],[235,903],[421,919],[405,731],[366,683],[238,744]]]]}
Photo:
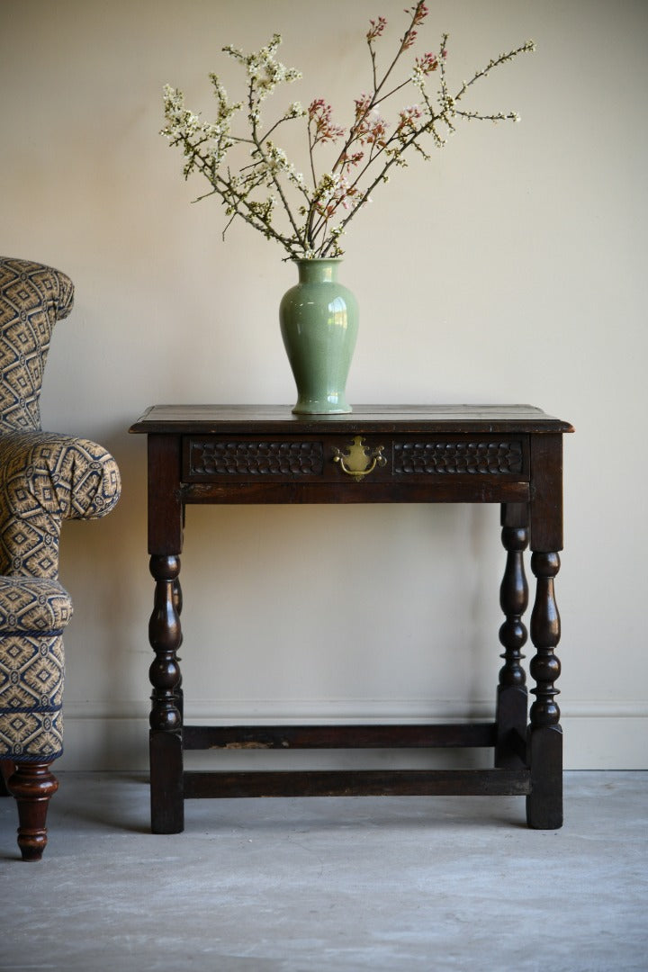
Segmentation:
{"type": "Polygon", "coordinates": [[[0,436],[0,573],[55,578],[62,520],[105,516],[119,492],[117,463],[96,442],[0,436]]]}

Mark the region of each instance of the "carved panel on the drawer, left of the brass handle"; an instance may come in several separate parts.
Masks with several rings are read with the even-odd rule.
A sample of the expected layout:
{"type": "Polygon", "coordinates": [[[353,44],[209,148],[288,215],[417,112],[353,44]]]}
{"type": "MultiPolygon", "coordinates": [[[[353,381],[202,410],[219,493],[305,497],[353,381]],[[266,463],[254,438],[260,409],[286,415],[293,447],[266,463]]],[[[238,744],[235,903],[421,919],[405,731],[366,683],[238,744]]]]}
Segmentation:
{"type": "Polygon", "coordinates": [[[291,479],[321,476],[324,446],[300,438],[260,439],[251,436],[187,436],[183,479],[291,479]]]}

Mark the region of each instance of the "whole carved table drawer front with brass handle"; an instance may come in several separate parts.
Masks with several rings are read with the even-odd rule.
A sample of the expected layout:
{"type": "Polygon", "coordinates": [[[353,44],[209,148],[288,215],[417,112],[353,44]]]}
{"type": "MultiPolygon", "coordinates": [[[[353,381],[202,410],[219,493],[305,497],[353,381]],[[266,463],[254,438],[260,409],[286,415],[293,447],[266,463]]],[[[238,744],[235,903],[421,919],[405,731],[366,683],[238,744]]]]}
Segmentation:
{"type": "Polygon", "coordinates": [[[185,482],[529,478],[527,436],[186,435],[185,482]]]}

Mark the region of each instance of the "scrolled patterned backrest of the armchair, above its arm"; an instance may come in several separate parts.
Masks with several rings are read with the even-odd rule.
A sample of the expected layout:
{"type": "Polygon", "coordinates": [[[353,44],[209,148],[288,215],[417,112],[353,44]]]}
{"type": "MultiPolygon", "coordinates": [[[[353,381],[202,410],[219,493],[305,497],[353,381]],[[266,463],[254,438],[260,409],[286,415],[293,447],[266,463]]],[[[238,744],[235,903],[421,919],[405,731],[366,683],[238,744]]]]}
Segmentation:
{"type": "Polygon", "coordinates": [[[64,273],[0,257],[0,435],[41,428],[51,331],[73,301],[74,285],[64,273]]]}

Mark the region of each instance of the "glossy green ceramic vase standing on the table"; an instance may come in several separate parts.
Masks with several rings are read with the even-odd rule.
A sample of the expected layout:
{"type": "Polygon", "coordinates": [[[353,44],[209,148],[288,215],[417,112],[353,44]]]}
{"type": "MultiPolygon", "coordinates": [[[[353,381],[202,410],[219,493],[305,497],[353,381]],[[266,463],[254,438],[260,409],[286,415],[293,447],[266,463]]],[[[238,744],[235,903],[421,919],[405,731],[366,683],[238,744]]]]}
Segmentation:
{"type": "Polygon", "coordinates": [[[337,281],[341,260],[295,260],[299,283],[282,298],[282,337],[297,401],[296,414],[350,412],[346,387],[358,336],[358,301],[337,281]]]}

